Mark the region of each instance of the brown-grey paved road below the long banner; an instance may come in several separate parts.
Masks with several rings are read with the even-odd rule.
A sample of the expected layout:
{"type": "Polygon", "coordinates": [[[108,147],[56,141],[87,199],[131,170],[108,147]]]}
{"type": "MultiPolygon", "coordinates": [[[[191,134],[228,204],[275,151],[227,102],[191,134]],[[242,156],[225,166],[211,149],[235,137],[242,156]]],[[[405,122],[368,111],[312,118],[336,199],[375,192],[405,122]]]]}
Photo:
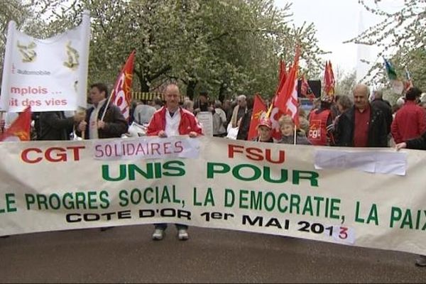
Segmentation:
{"type": "Polygon", "coordinates": [[[0,282],[425,283],[415,255],[240,231],[190,228],[178,241],[152,226],[0,239],[0,282]]]}

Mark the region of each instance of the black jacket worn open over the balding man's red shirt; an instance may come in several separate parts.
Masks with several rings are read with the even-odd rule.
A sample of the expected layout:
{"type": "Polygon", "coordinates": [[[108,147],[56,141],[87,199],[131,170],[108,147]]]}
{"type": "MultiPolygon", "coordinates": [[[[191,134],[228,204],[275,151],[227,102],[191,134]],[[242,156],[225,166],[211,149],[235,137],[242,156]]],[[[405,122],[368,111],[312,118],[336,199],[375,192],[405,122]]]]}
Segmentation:
{"type": "MultiPolygon", "coordinates": [[[[388,133],[386,119],[380,109],[370,106],[370,121],[368,122],[367,147],[387,147],[388,133]]],[[[337,122],[336,145],[354,147],[355,107],[346,110],[337,122]]]]}

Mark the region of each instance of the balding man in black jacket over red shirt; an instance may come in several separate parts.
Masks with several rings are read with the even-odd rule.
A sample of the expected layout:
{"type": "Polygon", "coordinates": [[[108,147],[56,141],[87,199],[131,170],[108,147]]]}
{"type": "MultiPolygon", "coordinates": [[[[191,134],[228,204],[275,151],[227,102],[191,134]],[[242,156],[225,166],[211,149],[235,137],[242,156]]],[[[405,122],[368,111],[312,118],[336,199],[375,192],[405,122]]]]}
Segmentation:
{"type": "Polygon", "coordinates": [[[387,147],[386,119],[380,109],[368,103],[370,90],[365,84],[354,87],[354,107],[337,123],[337,146],[387,147]]]}

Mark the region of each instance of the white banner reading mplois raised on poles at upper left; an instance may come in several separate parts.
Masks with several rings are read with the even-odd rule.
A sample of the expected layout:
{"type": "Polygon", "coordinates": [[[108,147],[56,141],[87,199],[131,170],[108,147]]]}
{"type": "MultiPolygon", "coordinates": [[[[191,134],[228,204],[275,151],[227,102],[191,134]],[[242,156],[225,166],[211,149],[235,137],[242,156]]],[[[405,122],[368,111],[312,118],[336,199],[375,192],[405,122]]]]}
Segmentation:
{"type": "Polygon", "coordinates": [[[9,23],[0,111],[74,111],[87,106],[89,12],[77,28],[33,38],[9,23]]]}

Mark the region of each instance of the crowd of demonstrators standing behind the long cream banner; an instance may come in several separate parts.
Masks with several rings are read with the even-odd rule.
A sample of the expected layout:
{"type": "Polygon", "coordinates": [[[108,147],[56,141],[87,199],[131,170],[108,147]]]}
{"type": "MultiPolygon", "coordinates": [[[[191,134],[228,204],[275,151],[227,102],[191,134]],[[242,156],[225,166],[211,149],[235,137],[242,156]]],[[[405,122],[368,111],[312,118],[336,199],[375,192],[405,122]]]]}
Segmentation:
{"type": "MultiPolygon", "coordinates": [[[[69,140],[73,127],[77,134],[85,138],[114,138],[126,133],[129,122],[124,119],[118,107],[107,104],[108,90],[105,84],[92,84],[89,99],[92,107],[86,114],[66,117],[63,111],[38,113],[38,140],[69,140]],[[104,110],[105,114],[104,114],[104,110]],[[104,114],[104,115],[103,115],[104,114]],[[102,119],[102,116],[104,118],[102,119]]],[[[238,128],[236,138],[248,140],[253,96],[240,94],[234,100],[209,100],[207,92],[200,92],[193,102],[185,98],[181,103],[177,84],[165,88],[165,105],[160,97],[144,104],[135,100],[132,103],[132,119],[137,124],[148,124],[147,135],[170,137],[188,135],[192,138],[202,135],[202,126],[197,114],[202,111],[212,113],[213,136],[226,136],[227,126],[238,128]]],[[[263,118],[256,126],[257,136],[251,141],[260,143],[285,143],[312,146],[344,147],[388,147],[389,139],[395,141],[395,148],[426,150],[426,94],[417,87],[411,87],[391,106],[383,99],[383,92],[376,90],[370,94],[365,84],[356,84],[352,95],[342,94],[333,97],[322,96],[312,102],[307,115],[299,111],[300,124],[295,127],[291,116],[278,119],[281,138],[272,138],[271,120],[263,118]],[[371,102],[368,98],[371,97],[371,102]]],[[[0,130],[8,127],[8,119],[0,120],[0,130]]],[[[176,224],[178,239],[188,239],[187,226],[176,224]]],[[[167,224],[155,224],[152,238],[163,239],[167,224]]],[[[426,256],[417,259],[418,266],[426,266],[426,256]]]]}

